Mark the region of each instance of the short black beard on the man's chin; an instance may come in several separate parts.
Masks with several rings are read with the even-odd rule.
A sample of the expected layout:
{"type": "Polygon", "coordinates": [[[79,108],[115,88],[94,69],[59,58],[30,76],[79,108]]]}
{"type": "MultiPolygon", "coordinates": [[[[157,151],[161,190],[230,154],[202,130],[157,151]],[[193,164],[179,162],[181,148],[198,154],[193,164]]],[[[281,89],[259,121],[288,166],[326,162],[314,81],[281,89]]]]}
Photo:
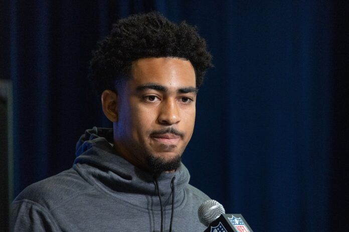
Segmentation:
{"type": "Polygon", "coordinates": [[[164,171],[174,171],[181,165],[181,155],[176,155],[169,161],[164,161],[161,157],[147,155],[148,167],[154,174],[160,174],[164,171]]]}

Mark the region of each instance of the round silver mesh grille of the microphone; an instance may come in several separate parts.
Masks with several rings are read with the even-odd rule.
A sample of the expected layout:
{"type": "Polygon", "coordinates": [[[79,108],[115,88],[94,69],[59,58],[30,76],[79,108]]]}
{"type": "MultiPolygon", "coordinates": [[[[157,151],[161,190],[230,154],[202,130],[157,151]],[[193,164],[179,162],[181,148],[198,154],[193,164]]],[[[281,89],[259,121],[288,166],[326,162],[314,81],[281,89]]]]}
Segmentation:
{"type": "Polygon", "coordinates": [[[223,213],[225,213],[224,207],[217,200],[206,200],[198,209],[199,220],[206,226],[223,213]]]}

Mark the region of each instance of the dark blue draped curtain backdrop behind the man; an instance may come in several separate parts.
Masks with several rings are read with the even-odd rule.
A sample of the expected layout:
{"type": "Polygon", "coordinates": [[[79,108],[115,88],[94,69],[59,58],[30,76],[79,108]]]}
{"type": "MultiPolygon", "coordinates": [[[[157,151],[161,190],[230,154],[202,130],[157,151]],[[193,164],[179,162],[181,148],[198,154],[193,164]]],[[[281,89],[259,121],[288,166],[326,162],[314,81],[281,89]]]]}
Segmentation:
{"type": "Polygon", "coordinates": [[[214,57],[183,156],[191,183],[254,231],[344,228],[349,7],[341,0],[3,0],[0,78],[14,91],[10,199],[70,168],[85,129],[111,126],[86,78],[91,50],[118,18],[149,10],[197,25],[214,57]]]}

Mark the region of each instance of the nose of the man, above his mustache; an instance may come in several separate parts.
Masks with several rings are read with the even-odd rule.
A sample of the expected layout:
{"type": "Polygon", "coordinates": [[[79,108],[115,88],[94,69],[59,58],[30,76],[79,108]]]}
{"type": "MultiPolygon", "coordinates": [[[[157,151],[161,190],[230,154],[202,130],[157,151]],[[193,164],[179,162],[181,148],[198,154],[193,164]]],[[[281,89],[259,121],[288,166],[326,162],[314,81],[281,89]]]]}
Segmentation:
{"type": "Polygon", "coordinates": [[[161,124],[172,125],[180,122],[180,114],[175,99],[166,99],[162,101],[158,115],[158,122],[161,124]]]}

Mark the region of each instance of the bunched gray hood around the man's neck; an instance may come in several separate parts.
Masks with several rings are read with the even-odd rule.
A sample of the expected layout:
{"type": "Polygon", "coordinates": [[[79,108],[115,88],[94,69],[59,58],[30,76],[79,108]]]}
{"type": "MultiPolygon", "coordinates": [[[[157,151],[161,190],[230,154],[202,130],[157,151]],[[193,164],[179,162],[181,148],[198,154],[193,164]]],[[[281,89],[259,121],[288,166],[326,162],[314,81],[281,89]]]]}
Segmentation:
{"type": "MultiPolygon", "coordinates": [[[[110,195],[136,207],[160,210],[154,176],[116,153],[112,128],[93,127],[81,135],[76,144],[73,168],[90,184],[110,195]]],[[[181,163],[176,171],[161,173],[156,177],[165,210],[169,210],[172,206],[173,177],[175,177],[173,205],[175,208],[181,207],[186,201],[184,188],[189,183],[190,174],[181,163]]]]}

